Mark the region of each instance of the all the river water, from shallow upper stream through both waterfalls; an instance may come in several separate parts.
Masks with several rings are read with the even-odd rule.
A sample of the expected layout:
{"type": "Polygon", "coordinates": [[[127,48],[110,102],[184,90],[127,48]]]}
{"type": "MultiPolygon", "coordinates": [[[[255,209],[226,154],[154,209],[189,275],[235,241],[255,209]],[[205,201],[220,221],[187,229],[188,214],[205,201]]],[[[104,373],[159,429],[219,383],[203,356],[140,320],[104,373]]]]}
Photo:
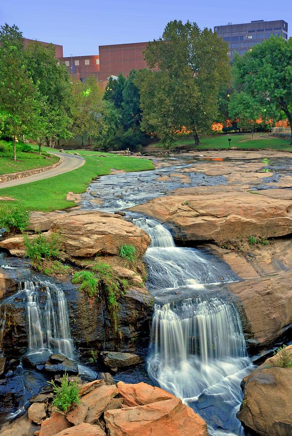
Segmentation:
{"type": "MultiPolygon", "coordinates": [[[[146,287],[155,303],[146,366],[119,371],[116,379],[152,382],[174,393],[206,420],[210,435],[244,435],[236,418],[243,398],[240,383],[254,365],[247,354],[234,297],[222,285],[239,277],[207,249],[178,247],[163,223],[127,210],[178,188],[227,184],[224,176],[199,172],[188,172],[187,180],[183,180],[178,171],[193,166],[195,161],[202,159],[166,157],[154,171],[102,176],[82,194],[80,206],[125,211],[126,219],[142,228],[152,241],[145,254],[146,287]]],[[[273,165],[287,171],[288,161],[277,160],[269,168],[273,165]]],[[[260,188],[269,186],[263,184],[260,188]]],[[[28,348],[23,348],[21,356],[37,365],[43,365],[51,351],[78,358],[70,333],[66,294],[58,283],[32,274],[26,261],[3,253],[0,266],[20,276],[16,293],[0,302],[0,348],[9,322],[7,306],[17,311],[25,304],[27,338],[23,344],[27,343],[28,348]]],[[[14,370],[0,380],[0,420],[21,415],[29,398],[47,384],[43,374],[23,368],[21,357],[18,363],[12,360],[16,362],[14,370]]],[[[89,366],[80,366],[80,372],[85,380],[97,376],[89,366]]]]}

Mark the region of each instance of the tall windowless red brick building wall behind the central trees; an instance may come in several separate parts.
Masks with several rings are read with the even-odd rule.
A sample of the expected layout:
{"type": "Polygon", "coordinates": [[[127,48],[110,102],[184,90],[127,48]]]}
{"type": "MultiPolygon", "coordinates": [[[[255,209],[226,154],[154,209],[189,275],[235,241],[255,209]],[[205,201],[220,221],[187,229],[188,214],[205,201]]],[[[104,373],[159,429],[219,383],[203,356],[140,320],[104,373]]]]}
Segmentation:
{"type": "Polygon", "coordinates": [[[131,70],[147,68],[143,51],[148,43],[116,44],[99,46],[98,80],[106,81],[110,76],[129,76],[131,70]]]}

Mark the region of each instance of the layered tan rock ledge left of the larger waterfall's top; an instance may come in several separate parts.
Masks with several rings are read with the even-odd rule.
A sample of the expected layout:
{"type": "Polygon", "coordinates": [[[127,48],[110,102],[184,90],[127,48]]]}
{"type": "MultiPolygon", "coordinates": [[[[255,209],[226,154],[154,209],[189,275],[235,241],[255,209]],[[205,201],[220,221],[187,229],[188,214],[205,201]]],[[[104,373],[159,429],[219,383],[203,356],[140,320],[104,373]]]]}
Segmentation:
{"type": "MultiPolygon", "coordinates": [[[[143,255],[150,243],[142,229],[120,215],[89,210],[33,212],[28,230],[41,231],[48,238],[51,233],[60,233],[62,251],[70,257],[117,255],[124,244],[133,245],[137,253],[143,255]]],[[[25,254],[22,235],[7,237],[0,242],[0,247],[15,256],[25,254]]]]}

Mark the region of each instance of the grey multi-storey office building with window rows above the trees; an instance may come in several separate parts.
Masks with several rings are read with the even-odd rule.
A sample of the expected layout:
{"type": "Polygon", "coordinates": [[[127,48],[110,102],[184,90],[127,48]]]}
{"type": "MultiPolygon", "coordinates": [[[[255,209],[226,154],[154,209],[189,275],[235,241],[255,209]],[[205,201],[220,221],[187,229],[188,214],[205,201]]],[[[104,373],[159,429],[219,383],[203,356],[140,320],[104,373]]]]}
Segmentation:
{"type": "Polygon", "coordinates": [[[244,24],[215,26],[214,32],[217,32],[218,36],[228,43],[228,56],[232,60],[236,52],[243,55],[264,39],[269,39],[271,35],[288,39],[288,23],[284,20],[257,20],[244,24]]]}

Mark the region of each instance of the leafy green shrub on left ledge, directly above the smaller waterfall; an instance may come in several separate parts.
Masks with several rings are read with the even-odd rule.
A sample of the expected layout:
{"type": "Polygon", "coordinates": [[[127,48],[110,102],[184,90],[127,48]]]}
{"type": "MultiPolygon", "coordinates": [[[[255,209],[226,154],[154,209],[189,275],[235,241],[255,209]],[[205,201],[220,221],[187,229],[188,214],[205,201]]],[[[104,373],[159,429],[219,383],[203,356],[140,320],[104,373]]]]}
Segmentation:
{"type": "Polygon", "coordinates": [[[32,261],[32,265],[37,269],[41,267],[42,259],[58,258],[62,246],[60,234],[51,233],[49,239],[42,233],[32,239],[28,235],[23,235],[26,247],[25,255],[32,261]]]}

